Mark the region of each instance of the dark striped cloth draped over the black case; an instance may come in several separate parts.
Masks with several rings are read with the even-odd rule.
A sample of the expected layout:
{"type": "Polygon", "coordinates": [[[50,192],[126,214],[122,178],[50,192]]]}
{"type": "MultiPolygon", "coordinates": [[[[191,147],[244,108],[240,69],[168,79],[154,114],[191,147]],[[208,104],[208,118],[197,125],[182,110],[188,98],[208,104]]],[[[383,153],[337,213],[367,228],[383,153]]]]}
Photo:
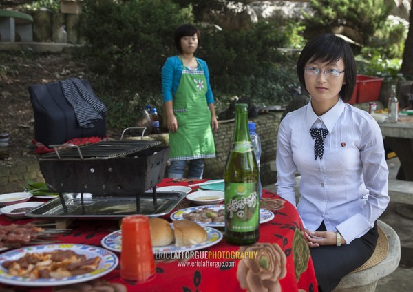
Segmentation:
{"type": "Polygon", "coordinates": [[[76,120],[80,127],[94,127],[95,121],[101,120],[102,113],[107,111],[105,105],[78,78],[59,81],[63,95],[72,105],[76,120]]]}

